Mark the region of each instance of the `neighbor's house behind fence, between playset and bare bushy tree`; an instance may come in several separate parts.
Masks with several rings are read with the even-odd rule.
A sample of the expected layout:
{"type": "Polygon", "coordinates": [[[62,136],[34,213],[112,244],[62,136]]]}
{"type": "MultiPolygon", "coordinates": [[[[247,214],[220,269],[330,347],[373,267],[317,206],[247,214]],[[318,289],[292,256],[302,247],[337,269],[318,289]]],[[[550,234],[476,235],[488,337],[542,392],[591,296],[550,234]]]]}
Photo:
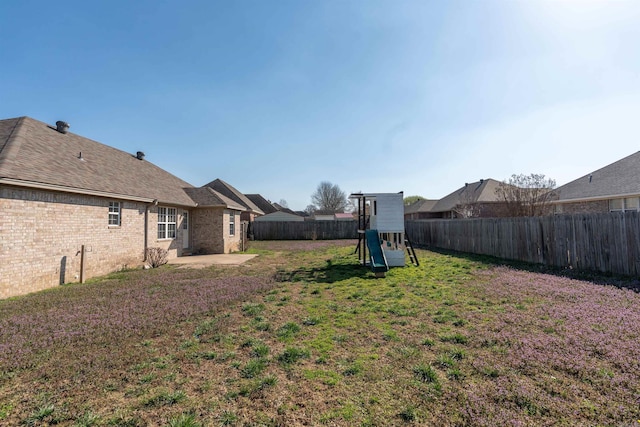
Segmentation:
{"type": "MultiPolygon", "coordinates": [[[[496,194],[504,185],[495,179],[466,183],[438,200],[428,211],[431,218],[491,218],[508,216],[507,205],[496,194]]],[[[423,212],[427,215],[427,212],[423,212]]]]}

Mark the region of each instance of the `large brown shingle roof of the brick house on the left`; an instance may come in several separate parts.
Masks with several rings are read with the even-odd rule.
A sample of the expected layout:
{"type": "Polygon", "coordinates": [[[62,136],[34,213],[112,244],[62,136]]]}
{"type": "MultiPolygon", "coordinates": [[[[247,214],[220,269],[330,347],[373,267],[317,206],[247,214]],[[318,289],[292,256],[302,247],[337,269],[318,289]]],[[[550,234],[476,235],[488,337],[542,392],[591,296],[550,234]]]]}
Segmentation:
{"type": "Polygon", "coordinates": [[[193,186],[158,166],[29,117],[0,120],[0,183],[195,206],[193,186]]]}

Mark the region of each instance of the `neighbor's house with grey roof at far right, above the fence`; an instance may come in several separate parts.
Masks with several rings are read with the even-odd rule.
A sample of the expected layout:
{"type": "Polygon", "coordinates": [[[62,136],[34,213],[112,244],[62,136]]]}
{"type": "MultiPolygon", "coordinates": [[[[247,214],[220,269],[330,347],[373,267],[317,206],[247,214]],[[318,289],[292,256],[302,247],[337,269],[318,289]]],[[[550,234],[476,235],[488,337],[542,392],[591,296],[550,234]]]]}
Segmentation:
{"type": "Polygon", "coordinates": [[[556,213],[640,210],[640,151],[555,190],[556,213]]]}

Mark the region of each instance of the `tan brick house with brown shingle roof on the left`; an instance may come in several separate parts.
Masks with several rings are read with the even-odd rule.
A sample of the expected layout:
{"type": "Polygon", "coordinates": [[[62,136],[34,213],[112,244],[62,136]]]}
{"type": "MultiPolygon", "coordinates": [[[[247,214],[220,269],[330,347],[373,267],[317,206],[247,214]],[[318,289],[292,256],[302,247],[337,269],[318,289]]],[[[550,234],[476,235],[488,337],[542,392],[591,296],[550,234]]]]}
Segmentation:
{"type": "Polygon", "coordinates": [[[237,250],[244,210],[64,122],[0,120],[0,298],[141,266],[149,247],[237,250]]]}

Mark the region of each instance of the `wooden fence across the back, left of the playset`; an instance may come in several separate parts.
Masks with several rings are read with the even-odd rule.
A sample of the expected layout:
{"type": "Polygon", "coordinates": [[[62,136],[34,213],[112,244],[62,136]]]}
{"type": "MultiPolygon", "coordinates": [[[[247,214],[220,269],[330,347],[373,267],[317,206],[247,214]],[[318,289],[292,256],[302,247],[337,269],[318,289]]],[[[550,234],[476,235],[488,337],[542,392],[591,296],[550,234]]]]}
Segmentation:
{"type": "Polygon", "coordinates": [[[356,221],[254,221],[255,240],[357,239],[356,221]]]}

